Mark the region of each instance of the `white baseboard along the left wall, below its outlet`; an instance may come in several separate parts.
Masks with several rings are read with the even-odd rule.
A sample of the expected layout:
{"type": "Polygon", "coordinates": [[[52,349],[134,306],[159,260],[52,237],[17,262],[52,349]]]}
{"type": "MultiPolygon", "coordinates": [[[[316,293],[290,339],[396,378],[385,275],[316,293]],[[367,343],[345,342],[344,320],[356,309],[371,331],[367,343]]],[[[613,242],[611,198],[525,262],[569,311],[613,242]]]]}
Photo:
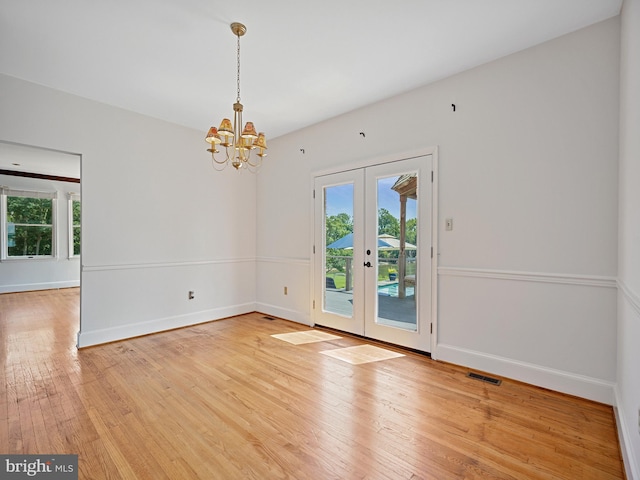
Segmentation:
{"type": "MultiPolygon", "coordinates": [[[[215,308],[201,312],[177,315],[174,317],[157,318],[144,322],[120,325],[93,331],[78,332],[78,348],[100,345],[102,343],[115,342],[127,338],[139,337],[151,333],[158,333],[174,328],[189,327],[199,323],[211,322],[223,318],[243,315],[256,311],[255,303],[232,305],[224,308],[215,308]]],[[[82,325],[80,326],[82,328],[82,325]]]]}

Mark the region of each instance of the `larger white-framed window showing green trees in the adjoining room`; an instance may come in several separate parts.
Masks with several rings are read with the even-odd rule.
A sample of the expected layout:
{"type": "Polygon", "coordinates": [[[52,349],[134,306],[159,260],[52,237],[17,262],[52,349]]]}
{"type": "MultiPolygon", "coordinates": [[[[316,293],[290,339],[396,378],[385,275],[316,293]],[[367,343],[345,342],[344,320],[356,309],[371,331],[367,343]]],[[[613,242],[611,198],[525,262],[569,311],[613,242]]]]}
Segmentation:
{"type": "Polygon", "coordinates": [[[2,188],[2,258],[55,256],[55,192],[2,188]]]}

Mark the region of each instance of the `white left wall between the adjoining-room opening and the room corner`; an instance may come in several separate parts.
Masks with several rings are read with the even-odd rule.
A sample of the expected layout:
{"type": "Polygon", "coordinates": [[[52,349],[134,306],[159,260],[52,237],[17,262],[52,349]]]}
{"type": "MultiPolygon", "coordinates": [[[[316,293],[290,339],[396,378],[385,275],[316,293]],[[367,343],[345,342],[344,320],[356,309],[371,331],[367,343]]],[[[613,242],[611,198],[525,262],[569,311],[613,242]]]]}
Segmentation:
{"type": "Polygon", "coordinates": [[[0,76],[0,140],[82,154],[80,346],[255,310],[255,178],[207,128],[0,76]]]}

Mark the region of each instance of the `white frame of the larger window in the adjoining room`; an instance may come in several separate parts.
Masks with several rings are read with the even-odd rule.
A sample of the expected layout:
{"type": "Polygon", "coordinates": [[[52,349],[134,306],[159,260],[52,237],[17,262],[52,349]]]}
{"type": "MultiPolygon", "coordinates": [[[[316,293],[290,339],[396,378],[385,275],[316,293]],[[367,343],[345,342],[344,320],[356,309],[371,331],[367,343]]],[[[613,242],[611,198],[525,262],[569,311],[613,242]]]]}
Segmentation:
{"type": "Polygon", "coordinates": [[[0,187],[0,261],[51,260],[58,258],[58,192],[0,187]],[[51,255],[9,256],[7,197],[46,198],[51,200],[51,255]]]}

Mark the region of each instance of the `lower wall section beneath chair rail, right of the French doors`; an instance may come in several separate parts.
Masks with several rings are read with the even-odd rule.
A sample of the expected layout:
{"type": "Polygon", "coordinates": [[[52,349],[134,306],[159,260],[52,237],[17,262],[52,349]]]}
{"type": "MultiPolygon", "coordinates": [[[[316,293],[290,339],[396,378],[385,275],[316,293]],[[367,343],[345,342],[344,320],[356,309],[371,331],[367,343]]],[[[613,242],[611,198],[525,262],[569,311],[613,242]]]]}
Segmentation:
{"type": "Polygon", "coordinates": [[[435,358],[613,404],[614,278],[448,267],[438,273],[435,358]]]}

